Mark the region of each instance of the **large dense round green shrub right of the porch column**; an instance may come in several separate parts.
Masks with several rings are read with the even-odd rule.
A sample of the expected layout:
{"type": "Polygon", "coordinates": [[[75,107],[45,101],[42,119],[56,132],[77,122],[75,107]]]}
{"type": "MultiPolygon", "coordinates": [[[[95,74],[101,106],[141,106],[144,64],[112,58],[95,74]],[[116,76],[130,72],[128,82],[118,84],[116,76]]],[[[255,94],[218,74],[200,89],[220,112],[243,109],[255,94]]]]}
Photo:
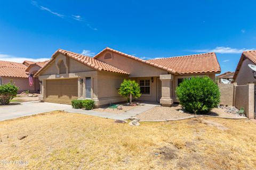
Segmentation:
{"type": "Polygon", "coordinates": [[[176,90],[183,108],[194,114],[206,114],[220,103],[220,91],[209,77],[185,79],[176,90]]]}

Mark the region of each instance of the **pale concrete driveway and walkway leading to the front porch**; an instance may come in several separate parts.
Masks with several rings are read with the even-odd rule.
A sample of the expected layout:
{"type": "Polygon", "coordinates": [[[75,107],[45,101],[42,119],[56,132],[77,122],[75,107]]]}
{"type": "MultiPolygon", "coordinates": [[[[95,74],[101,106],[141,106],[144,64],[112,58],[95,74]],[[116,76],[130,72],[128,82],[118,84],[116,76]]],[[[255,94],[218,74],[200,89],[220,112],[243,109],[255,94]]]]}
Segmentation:
{"type": "Polygon", "coordinates": [[[92,115],[109,119],[129,119],[132,116],[136,116],[143,111],[147,111],[153,107],[157,106],[156,104],[145,104],[143,106],[137,107],[133,110],[129,110],[122,114],[111,114],[107,112],[99,112],[93,110],[83,110],[83,109],[73,109],[70,105],[67,104],[57,104],[57,103],[47,103],[39,101],[31,102],[20,102],[15,104],[10,104],[7,106],[0,106],[0,121],[13,119],[23,116],[41,114],[44,112],[61,110],[70,113],[78,113],[84,115],[92,115]]]}

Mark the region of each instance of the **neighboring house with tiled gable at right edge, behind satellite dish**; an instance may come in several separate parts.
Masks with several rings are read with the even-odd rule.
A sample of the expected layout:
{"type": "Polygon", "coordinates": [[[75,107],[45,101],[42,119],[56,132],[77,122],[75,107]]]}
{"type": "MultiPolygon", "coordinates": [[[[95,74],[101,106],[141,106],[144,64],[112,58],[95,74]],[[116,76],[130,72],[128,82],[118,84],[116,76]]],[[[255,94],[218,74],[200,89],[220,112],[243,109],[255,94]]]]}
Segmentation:
{"type": "Polygon", "coordinates": [[[256,83],[256,72],[253,72],[248,64],[256,65],[256,50],[245,51],[242,53],[233,77],[234,82],[237,83],[237,85],[256,83]]]}

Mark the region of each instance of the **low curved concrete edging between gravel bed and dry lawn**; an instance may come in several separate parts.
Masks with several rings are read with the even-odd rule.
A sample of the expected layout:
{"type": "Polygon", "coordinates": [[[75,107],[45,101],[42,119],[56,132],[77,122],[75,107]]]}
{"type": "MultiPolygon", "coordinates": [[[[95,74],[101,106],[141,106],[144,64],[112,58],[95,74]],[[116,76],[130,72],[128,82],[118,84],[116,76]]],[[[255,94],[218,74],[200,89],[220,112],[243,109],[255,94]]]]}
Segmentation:
{"type": "Polygon", "coordinates": [[[139,122],[169,122],[169,121],[176,121],[176,120],[191,119],[196,117],[213,117],[213,118],[233,119],[233,120],[248,119],[247,117],[217,117],[217,116],[209,116],[209,115],[196,115],[196,116],[189,116],[189,117],[183,117],[178,119],[140,120],[139,122]]]}

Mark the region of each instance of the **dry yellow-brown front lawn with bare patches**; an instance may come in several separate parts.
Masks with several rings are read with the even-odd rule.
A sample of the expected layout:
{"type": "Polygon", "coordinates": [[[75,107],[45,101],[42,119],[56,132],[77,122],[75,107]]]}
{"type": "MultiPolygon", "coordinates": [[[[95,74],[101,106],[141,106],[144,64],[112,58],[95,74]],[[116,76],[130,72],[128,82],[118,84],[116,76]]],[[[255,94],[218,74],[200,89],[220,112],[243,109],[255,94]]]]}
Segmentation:
{"type": "Polygon", "coordinates": [[[251,120],[193,118],[132,127],[55,111],[5,120],[0,129],[0,169],[256,167],[256,124],[251,120]],[[28,164],[9,162],[15,160],[28,164]]]}

